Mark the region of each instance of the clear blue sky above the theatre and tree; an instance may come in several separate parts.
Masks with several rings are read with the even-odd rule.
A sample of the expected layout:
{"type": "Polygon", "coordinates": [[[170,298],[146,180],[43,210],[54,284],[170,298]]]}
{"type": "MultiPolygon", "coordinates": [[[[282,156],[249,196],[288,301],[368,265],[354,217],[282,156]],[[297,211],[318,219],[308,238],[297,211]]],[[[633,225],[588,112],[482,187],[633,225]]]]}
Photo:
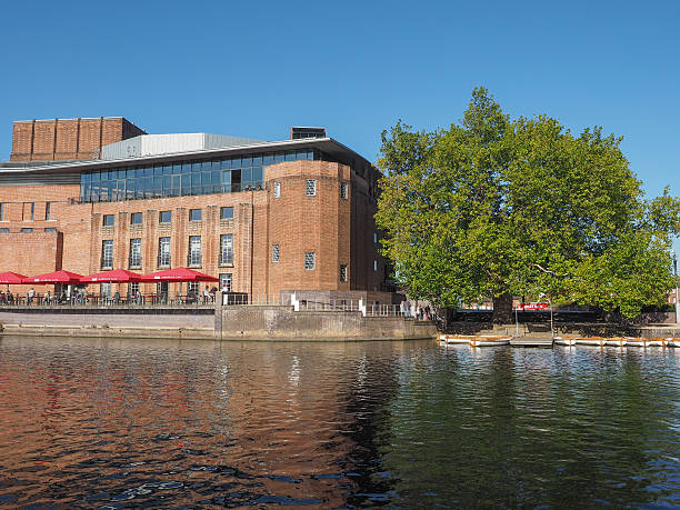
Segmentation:
{"type": "Polygon", "coordinates": [[[33,1],[0,19],[11,123],[122,116],[150,133],[268,140],[290,126],[376,160],[403,119],[458,121],[476,86],[513,117],[599,124],[650,194],[680,193],[680,2],[33,1]]]}

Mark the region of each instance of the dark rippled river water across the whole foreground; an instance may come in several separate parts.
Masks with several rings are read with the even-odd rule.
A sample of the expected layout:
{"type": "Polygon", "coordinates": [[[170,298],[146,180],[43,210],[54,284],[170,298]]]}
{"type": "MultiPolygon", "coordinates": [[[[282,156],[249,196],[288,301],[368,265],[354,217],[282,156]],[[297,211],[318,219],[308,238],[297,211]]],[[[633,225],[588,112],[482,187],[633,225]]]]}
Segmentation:
{"type": "Polygon", "coordinates": [[[0,507],[680,506],[680,349],[0,337],[0,507]]]}

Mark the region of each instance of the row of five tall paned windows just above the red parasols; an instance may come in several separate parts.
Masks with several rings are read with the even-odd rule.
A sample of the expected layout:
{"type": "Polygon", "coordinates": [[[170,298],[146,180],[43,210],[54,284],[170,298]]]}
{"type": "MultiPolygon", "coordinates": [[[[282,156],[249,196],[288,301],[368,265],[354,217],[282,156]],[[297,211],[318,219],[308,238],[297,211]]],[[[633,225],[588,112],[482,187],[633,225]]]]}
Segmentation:
{"type": "MultiPolygon", "coordinates": [[[[189,248],[187,250],[187,266],[202,266],[202,242],[200,236],[189,236],[189,248]]],[[[159,268],[170,267],[172,260],[170,256],[170,238],[158,240],[157,266],[159,268]]],[[[233,266],[233,234],[224,233],[220,236],[220,266],[233,266]]],[[[130,251],[128,267],[139,269],[142,267],[141,238],[130,239],[130,251]]],[[[113,240],[104,239],[101,242],[101,269],[113,269],[113,240]]]]}

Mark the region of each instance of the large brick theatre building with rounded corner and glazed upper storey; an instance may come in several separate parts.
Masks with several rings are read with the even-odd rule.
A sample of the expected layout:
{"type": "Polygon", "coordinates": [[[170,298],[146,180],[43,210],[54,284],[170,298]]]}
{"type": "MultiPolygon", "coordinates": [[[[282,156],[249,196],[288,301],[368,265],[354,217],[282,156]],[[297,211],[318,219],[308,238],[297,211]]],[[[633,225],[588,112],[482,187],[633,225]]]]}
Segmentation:
{"type": "MultiPolygon", "coordinates": [[[[322,128],[262,141],[147,134],[122,118],[14,122],[0,162],[0,271],[188,267],[253,297],[390,302],[378,177],[322,128]]],[[[173,294],[179,284],[139,290],[173,294]]]]}

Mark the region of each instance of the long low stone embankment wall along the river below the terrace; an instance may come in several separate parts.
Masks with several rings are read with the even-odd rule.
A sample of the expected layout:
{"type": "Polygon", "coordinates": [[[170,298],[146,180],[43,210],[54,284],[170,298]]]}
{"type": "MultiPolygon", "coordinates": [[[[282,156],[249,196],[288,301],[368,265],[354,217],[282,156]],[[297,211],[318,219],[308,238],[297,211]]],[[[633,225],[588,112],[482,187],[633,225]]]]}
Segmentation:
{"type": "Polygon", "coordinates": [[[202,309],[33,308],[0,310],[3,334],[219,340],[412,340],[437,336],[432,322],[363,317],[358,311],[293,311],[286,306],[202,309]]]}

